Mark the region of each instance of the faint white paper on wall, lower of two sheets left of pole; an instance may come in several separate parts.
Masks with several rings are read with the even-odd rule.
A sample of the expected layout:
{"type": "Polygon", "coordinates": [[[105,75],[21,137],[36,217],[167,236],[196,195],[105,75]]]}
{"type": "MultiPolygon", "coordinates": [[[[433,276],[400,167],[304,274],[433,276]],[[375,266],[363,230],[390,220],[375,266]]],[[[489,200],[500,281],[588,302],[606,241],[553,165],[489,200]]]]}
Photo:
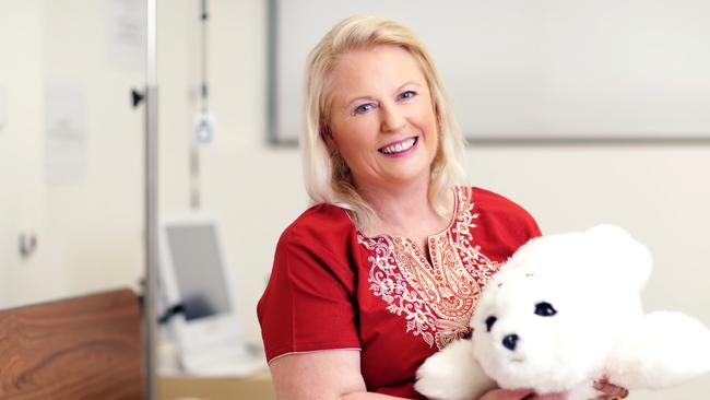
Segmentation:
{"type": "Polygon", "coordinates": [[[86,101],[83,86],[45,87],[45,180],[76,184],[86,175],[86,101]]]}

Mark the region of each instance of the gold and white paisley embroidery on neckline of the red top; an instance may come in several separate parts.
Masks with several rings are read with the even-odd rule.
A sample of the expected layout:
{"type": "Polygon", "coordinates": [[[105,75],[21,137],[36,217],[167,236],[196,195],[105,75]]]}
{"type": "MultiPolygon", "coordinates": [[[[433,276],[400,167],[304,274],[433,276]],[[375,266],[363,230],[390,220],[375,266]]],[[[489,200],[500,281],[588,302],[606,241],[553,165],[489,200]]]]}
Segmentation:
{"type": "Polygon", "coordinates": [[[437,349],[469,332],[481,290],[500,268],[481,252],[481,246],[471,244],[470,231],[478,214],[473,214],[465,190],[454,192],[452,226],[427,240],[431,264],[410,239],[357,236],[372,254],[369,290],[388,304],[390,313],[404,316],[407,332],[437,349]]]}

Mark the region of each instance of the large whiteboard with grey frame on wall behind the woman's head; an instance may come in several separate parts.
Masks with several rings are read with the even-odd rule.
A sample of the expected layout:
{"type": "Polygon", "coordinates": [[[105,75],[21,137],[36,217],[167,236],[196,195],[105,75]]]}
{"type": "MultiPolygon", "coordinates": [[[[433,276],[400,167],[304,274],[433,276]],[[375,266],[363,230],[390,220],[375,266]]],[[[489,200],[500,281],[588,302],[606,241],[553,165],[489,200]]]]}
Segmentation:
{"type": "Polygon", "coordinates": [[[708,0],[271,0],[270,136],[296,141],[303,71],[341,19],[410,25],[473,140],[710,138],[708,0]]]}

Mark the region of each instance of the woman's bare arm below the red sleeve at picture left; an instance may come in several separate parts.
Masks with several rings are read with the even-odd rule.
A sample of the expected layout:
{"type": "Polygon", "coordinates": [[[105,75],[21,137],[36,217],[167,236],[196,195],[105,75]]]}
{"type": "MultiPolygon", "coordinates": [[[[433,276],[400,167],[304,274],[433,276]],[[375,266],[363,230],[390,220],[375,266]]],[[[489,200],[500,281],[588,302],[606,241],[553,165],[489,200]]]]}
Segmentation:
{"type": "Polygon", "coordinates": [[[357,350],[322,350],[288,354],[269,365],[276,399],[358,400],[398,399],[368,393],[357,350]]]}

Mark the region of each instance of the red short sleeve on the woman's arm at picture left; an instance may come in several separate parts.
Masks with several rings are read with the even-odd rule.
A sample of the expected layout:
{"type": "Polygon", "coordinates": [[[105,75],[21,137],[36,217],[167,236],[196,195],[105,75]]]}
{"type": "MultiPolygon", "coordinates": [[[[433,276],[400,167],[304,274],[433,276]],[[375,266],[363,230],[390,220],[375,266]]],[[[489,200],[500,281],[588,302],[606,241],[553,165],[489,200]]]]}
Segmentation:
{"type": "Polygon", "coordinates": [[[292,352],[360,348],[350,250],[353,232],[342,210],[317,207],[281,236],[271,279],[257,307],[270,362],[292,352]]]}

